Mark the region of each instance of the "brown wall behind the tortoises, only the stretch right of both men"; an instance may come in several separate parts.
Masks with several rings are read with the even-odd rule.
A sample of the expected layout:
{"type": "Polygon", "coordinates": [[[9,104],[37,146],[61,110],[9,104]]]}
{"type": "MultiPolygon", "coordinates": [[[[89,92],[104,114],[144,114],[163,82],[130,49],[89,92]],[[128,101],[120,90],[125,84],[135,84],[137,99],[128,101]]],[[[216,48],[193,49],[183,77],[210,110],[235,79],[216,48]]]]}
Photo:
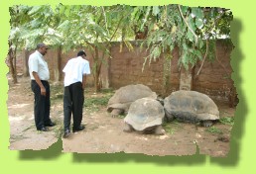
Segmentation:
{"type": "MultiPolygon", "coordinates": [[[[128,48],[123,48],[119,52],[119,44],[114,44],[111,48],[113,59],[110,61],[109,81],[110,86],[119,88],[128,84],[142,83],[149,86],[153,91],[162,93],[163,91],[163,57],[152,61],[149,65],[145,65],[144,71],[142,67],[144,63],[143,57],[147,56],[146,49],[140,51],[139,46],[133,44],[134,51],[130,52],[128,48]]],[[[210,96],[220,96],[227,98],[233,81],[227,76],[232,73],[230,65],[231,47],[227,47],[222,41],[216,44],[216,54],[221,62],[205,61],[198,76],[194,76],[192,81],[192,90],[199,91],[210,96]],[[223,68],[224,67],[224,68],[223,68]]],[[[171,87],[168,91],[171,93],[180,87],[180,70],[178,66],[179,48],[173,51],[173,59],[171,65],[171,87]]],[[[194,67],[194,74],[197,73],[200,62],[194,67]]]]}

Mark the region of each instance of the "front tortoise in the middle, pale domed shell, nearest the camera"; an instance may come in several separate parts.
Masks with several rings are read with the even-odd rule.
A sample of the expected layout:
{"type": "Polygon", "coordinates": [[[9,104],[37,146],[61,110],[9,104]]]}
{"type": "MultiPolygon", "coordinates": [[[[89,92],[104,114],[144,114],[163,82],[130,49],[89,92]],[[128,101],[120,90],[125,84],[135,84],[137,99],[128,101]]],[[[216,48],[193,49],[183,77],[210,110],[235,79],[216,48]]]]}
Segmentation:
{"type": "Polygon", "coordinates": [[[133,102],[124,118],[123,131],[164,134],[162,123],[165,117],[163,105],[155,99],[142,98],[133,102]]]}

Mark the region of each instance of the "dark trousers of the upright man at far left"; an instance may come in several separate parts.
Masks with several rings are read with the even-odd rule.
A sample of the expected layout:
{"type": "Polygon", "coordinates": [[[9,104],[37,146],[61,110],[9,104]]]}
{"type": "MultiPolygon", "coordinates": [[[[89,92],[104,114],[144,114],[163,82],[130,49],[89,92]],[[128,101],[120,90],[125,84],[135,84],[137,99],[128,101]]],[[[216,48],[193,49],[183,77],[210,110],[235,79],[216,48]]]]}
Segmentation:
{"type": "Polygon", "coordinates": [[[50,120],[50,85],[48,81],[41,81],[46,88],[46,96],[41,95],[41,89],[35,80],[31,81],[31,89],[34,92],[34,117],[37,130],[41,130],[50,120]]]}

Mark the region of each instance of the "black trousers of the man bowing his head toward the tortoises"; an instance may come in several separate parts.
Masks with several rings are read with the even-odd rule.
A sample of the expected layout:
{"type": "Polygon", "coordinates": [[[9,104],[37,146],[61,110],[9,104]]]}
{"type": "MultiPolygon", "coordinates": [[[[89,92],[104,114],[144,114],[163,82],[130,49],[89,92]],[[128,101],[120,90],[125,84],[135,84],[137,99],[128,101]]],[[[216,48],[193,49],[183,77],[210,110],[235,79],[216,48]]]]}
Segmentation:
{"type": "Polygon", "coordinates": [[[64,131],[70,129],[72,115],[73,129],[80,127],[84,102],[81,82],[64,87],[64,131]]]}

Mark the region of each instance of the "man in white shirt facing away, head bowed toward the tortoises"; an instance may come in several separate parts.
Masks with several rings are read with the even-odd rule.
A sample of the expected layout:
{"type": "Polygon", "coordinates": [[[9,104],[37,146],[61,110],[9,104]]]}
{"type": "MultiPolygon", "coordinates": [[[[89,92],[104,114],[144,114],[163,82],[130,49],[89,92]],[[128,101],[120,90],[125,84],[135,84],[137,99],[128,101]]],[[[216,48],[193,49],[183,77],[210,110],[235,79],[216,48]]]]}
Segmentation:
{"type": "Polygon", "coordinates": [[[64,66],[64,137],[70,134],[70,120],[72,115],[72,131],[82,131],[82,108],[84,102],[83,91],[86,75],[90,74],[86,53],[80,50],[77,57],[71,58],[64,66]]]}

